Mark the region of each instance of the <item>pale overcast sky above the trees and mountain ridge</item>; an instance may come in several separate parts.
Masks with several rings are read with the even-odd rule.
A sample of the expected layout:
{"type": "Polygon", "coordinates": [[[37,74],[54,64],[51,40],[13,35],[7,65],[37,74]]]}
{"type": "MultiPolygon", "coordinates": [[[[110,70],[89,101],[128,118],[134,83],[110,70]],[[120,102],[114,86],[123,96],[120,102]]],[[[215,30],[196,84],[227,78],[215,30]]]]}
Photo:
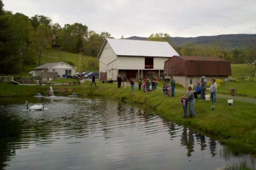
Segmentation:
{"type": "Polygon", "coordinates": [[[3,0],[5,10],[82,23],[113,37],[256,34],[256,0],[3,0]]]}

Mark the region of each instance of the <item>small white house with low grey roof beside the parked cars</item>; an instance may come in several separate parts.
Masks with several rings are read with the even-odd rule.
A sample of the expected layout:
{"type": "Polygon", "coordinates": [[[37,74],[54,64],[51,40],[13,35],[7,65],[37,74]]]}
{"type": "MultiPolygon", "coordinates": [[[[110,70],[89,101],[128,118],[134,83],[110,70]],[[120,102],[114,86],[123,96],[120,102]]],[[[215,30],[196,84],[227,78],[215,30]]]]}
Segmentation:
{"type": "Polygon", "coordinates": [[[66,62],[50,62],[34,68],[35,76],[41,76],[41,72],[58,72],[59,76],[75,75],[76,67],[67,64],[66,62]]]}

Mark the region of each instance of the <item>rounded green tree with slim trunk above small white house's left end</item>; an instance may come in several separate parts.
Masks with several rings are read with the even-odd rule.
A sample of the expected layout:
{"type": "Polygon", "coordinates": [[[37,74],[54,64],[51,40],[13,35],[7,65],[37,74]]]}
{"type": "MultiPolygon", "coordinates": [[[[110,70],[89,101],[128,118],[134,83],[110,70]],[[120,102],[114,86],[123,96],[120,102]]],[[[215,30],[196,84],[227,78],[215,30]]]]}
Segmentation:
{"type": "Polygon", "coordinates": [[[41,55],[43,51],[51,48],[51,30],[48,26],[39,25],[32,37],[32,45],[38,54],[38,65],[41,64],[41,55]]]}

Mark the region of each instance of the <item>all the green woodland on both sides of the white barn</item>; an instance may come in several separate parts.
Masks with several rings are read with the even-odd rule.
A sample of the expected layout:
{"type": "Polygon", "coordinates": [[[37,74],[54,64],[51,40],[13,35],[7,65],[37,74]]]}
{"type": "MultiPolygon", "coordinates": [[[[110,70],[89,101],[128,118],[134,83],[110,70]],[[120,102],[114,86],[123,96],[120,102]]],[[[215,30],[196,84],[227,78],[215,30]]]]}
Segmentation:
{"type": "MultiPolygon", "coordinates": [[[[22,66],[41,65],[42,55],[51,49],[96,57],[105,38],[113,37],[107,31],[89,31],[82,23],[67,23],[62,27],[44,15],[14,14],[4,10],[0,0],[0,74],[18,73],[22,66]]],[[[232,63],[256,60],[256,43],[230,50],[223,48],[219,41],[206,44],[186,42],[178,46],[169,34],[163,33],[151,34],[146,40],[167,41],[180,55],[221,57],[232,63]]]]}

